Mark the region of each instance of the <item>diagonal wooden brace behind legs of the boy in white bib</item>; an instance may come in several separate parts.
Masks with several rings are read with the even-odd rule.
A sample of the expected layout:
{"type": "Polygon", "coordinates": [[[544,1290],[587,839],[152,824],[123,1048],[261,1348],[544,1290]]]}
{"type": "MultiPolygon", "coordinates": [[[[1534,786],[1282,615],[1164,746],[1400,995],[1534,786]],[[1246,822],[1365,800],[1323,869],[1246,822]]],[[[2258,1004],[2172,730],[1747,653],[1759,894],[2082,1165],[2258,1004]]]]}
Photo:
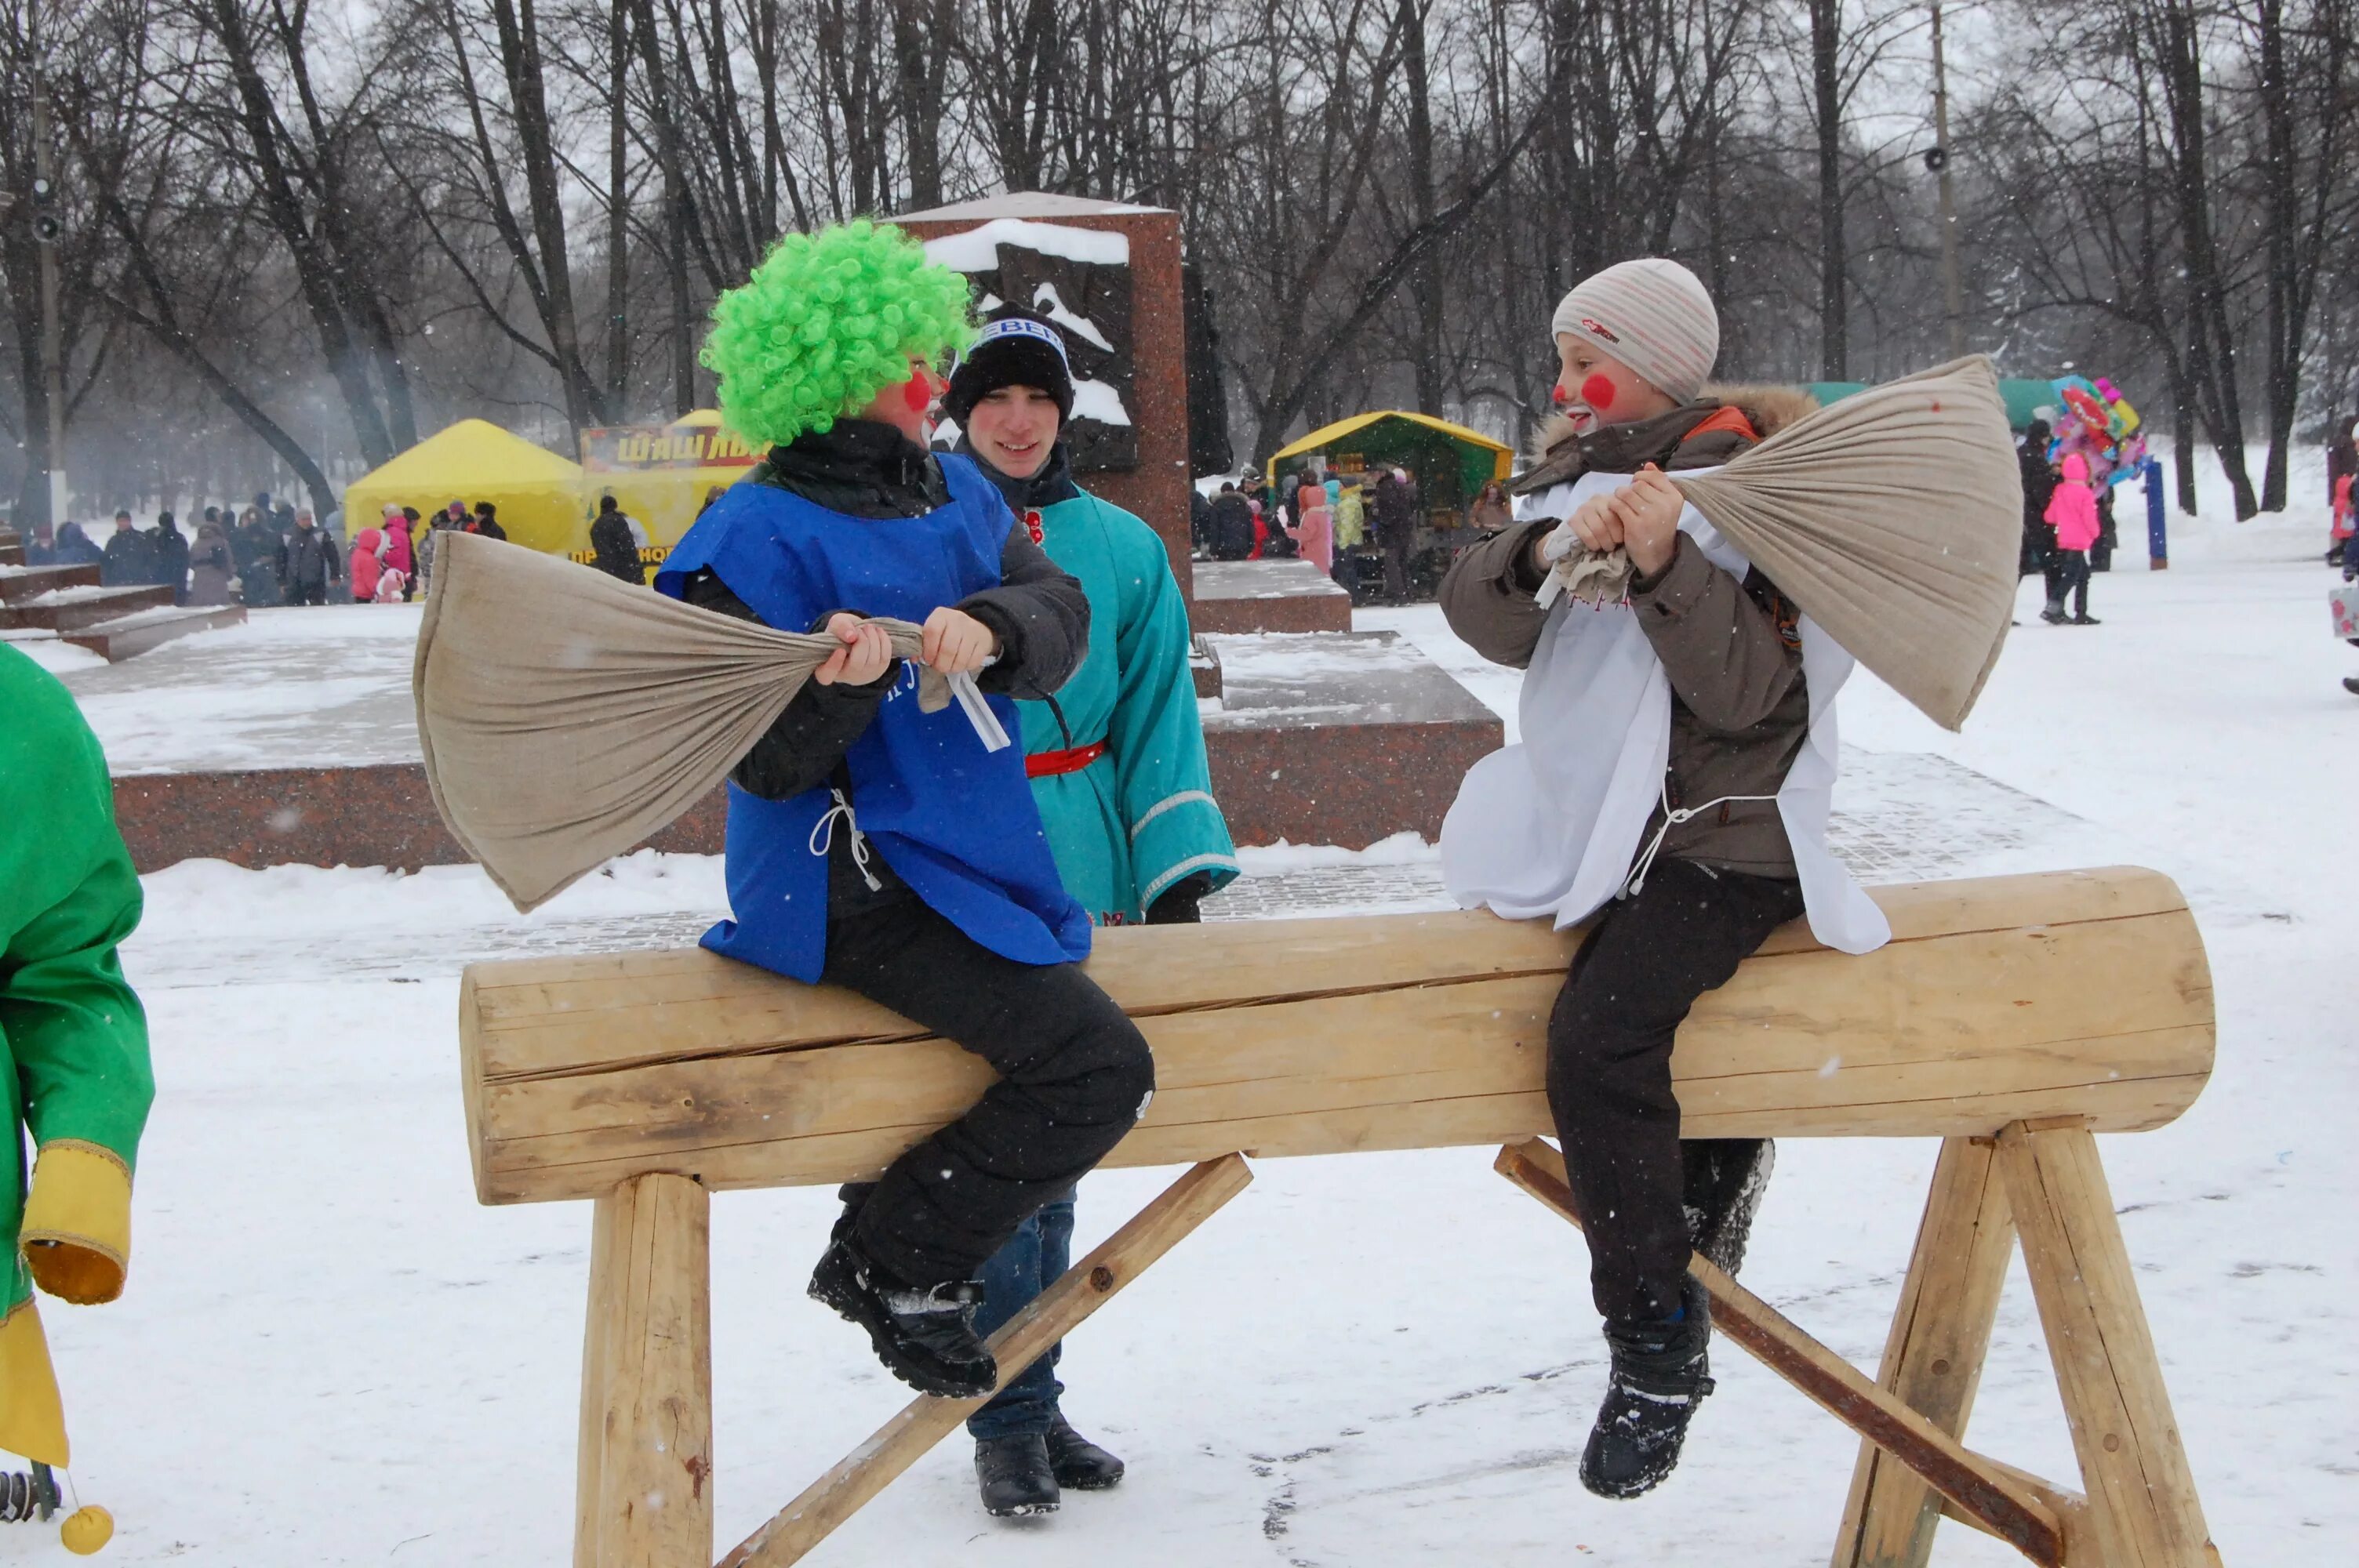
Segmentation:
{"type": "MultiPolygon", "coordinates": [[[[1564,1179],[1564,1155],[1540,1139],[1500,1148],[1493,1170],[1571,1224],[1581,1224],[1571,1186],[1564,1179]]],[[[2064,1521],[2041,1488],[2024,1485],[2022,1471],[1977,1455],[1868,1382],[1859,1368],[1805,1335],[1701,1252],[1689,1257],[1687,1269],[1713,1299],[1713,1327],[1748,1349],[1838,1422],[1923,1476],[1958,1507],[1967,1523],[1996,1535],[2043,1568],[2062,1568],[2064,1521]]]]}

